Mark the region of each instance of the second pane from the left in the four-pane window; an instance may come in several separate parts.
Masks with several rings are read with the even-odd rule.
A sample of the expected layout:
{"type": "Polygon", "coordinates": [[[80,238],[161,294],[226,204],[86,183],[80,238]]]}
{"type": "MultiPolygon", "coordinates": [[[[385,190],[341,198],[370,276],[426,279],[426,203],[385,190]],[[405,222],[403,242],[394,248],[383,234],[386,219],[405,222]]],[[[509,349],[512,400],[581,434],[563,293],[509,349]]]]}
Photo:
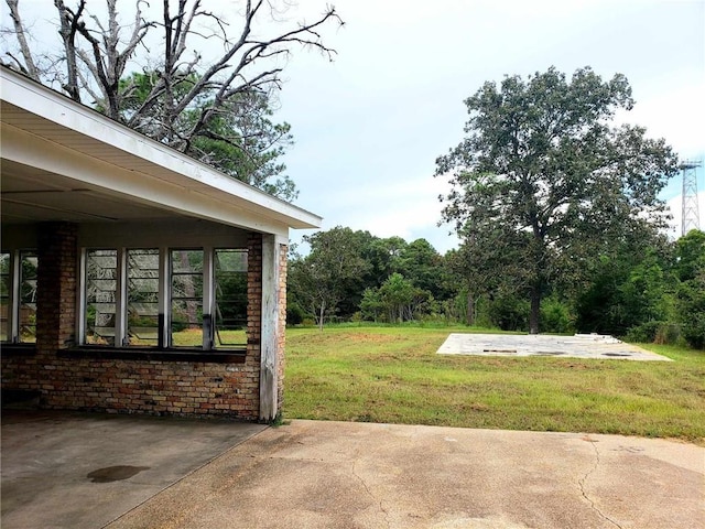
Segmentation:
{"type": "Polygon", "coordinates": [[[130,345],[159,343],[159,250],[128,250],[130,345]]]}

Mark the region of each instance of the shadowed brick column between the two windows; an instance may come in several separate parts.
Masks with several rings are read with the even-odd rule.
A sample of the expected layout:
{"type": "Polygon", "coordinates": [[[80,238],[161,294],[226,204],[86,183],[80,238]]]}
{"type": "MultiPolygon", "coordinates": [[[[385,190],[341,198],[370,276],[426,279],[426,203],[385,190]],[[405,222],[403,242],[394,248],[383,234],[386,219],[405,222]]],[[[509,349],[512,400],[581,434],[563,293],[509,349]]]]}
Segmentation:
{"type": "Polygon", "coordinates": [[[78,227],[40,225],[36,299],[36,349],[52,354],[75,344],[78,227]]]}

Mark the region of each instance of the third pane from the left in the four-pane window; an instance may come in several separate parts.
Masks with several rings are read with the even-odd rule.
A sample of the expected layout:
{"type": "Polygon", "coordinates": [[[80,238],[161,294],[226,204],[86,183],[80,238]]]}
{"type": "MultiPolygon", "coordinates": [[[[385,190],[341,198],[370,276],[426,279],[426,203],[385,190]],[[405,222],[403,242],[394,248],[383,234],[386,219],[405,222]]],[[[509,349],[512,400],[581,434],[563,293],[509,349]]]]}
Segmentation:
{"type": "Polygon", "coordinates": [[[171,252],[171,336],[174,346],[203,346],[203,250],[171,252]]]}

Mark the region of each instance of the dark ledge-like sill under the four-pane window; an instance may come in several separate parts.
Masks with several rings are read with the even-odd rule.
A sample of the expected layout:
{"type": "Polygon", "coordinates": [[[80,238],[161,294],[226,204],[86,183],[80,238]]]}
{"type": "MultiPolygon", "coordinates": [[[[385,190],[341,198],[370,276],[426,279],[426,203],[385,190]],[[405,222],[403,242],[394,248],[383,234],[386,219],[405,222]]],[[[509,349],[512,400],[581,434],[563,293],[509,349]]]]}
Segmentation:
{"type": "Polygon", "coordinates": [[[203,349],[128,349],[115,347],[80,346],[59,349],[59,358],[90,358],[99,360],[142,360],[142,361],[199,361],[206,364],[245,364],[246,349],[203,350],[203,349]]]}

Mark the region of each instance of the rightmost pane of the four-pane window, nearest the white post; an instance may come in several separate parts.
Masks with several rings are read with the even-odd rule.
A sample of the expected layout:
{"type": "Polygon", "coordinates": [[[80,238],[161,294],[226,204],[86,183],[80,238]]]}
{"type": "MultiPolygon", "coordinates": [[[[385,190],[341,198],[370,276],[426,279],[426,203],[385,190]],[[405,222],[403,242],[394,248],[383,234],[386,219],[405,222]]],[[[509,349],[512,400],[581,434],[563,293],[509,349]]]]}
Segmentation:
{"type": "Polygon", "coordinates": [[[215,252],[215,345],[247,345],[247,250],[215,252]]]}

